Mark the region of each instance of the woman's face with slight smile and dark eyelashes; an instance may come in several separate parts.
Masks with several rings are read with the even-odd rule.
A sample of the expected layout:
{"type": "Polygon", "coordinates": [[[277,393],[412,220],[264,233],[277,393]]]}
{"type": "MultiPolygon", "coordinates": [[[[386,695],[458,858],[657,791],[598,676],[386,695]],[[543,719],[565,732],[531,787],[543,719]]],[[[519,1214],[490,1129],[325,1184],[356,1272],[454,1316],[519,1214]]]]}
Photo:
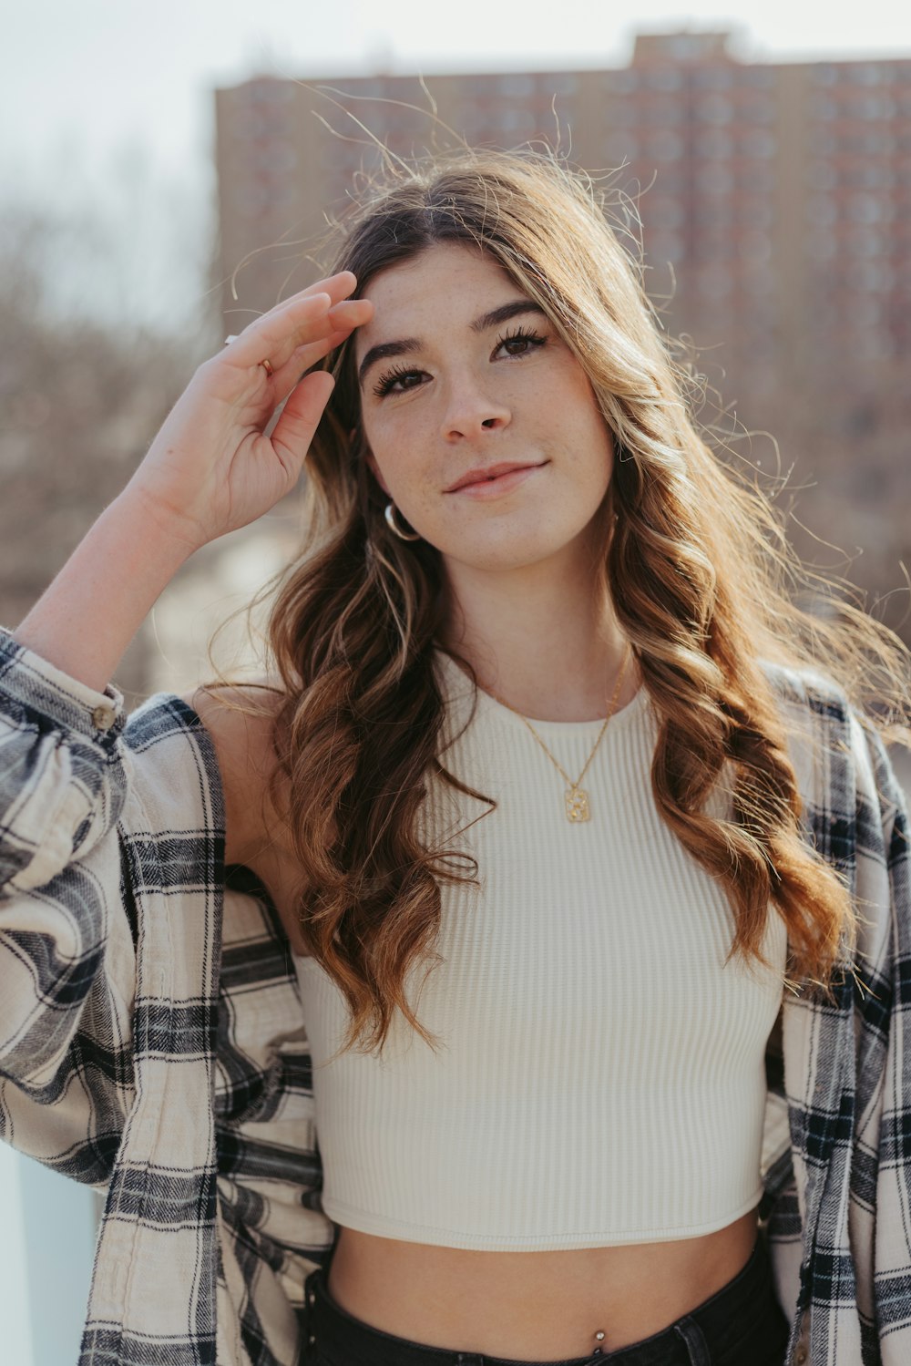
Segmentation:
{"type": "Polygon", "coordinates": [[[355,365],[367,460],[400,519],[456,576],[580,555],[587,566],[613,443],[546,314],[490,255],[448,243],[382,270],[366,295],[376,313],[355,365]],[[490,478],[501,466],[512,473],[490,478]]]}

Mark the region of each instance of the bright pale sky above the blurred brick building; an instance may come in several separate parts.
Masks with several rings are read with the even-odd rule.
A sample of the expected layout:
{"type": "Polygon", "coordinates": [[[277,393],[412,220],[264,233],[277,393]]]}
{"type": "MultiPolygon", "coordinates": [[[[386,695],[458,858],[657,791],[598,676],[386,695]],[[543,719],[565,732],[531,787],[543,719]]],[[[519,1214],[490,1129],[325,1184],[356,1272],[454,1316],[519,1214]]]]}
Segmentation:
{"type": "Polygon", "coordinates": [[[377,63],[428,75],[620,66],[636,29],[687,25],[733,29],[751,60],[911,56],[911,7],[895,0],[30,0],[3,20],[0,197],[104,205],[152,296],[175,235],[191,243],[208,224],[216,86],[377,63]],[[143,184],[156,186],[146,198],[143,184]]]}

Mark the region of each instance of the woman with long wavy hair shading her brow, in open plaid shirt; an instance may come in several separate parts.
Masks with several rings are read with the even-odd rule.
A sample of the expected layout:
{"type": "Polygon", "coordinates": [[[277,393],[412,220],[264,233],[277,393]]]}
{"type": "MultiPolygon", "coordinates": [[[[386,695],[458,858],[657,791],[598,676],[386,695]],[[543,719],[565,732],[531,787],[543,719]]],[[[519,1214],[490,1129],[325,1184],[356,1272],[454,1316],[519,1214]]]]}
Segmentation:
{"type": "Polygon", "coordinates": [[[4,643],[4,1132],[108,1188],[85,1362],[903,1359],[907,654],[774,527],[549,158],[402,172],[201,366],[4,643]],[[275,676],[124,732],[309,448],[275,676]]]}

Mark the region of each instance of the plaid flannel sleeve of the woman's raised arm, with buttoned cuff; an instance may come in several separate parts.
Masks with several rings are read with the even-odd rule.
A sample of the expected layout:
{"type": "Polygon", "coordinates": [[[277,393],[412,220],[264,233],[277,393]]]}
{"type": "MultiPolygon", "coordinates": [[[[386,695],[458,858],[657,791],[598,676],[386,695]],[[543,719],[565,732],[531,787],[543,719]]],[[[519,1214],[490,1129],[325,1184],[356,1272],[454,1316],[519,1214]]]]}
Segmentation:
{"type": "Polygon", "coordinates": [[[123,698],[0,632],[0,1137],[92,1184],[132,1100],[123,698]]]}

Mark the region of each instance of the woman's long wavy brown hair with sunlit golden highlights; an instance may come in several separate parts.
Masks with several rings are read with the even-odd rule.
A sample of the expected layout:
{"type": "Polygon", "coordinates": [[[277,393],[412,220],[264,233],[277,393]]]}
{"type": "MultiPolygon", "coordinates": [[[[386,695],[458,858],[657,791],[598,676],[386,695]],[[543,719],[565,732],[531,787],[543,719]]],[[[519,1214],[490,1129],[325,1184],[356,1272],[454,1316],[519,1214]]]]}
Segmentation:
{"type": "MultiPolygon", "coordinates": [[[[835,620],[800,605],[807,591],[818,597],[818,575],[788,548],[773,500],[698,430],[691,372],[647,299],[641,260],[611,225],[605,193],[585,175],[535,150],[397,163],[337,232],[331,269],[354,270],[359,295],[437,243],[479,247],[575,352],[617,452],[597,574],[658,717],[658,811],[727,891],[731,955],[765,963],[774,908],[787,926],[785,986],[830,999],[850,970],[856,912],[802,835],[763,661],[825,672],[866,725],[892,723],[899,735],[904,646],[848,601],[835,620]],[[735,779],[732,821],[705,810],[723,770],[735,779]]],[[[350,1005],[344,1046],[381,1049],[396,1009],[433,1044],[406,977],[436,962],[441,885],[478,881],[473,856],[428,840],[421,824],[430,775],[473,791],[444,764],[433,654],[447,585],[438,552],[403,542],[384,520],[354,344],[324,367],[336,388],[307,458],[309,540],[269,620],[281,680],[275,781],[300,867],[302,941],[350,1005]]]]}

